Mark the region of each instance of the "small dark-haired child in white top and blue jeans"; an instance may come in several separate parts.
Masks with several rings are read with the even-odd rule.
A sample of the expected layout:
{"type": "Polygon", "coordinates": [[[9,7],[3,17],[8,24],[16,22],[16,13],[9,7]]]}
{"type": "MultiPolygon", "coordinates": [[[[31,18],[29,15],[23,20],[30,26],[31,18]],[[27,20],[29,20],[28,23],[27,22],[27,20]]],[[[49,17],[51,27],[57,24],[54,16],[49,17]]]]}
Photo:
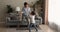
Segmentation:
{"type": "Polygon", "coordinates": [[[30,22],[29,22],[29,32],[31,32],[31,28],[32,26],[34,26],[34,28],[36,29],[36,32],[38,32],[38,29],[36,27],[36,23],[35,23],[35,12],[32,11],[30,14],[30,22]]]}

